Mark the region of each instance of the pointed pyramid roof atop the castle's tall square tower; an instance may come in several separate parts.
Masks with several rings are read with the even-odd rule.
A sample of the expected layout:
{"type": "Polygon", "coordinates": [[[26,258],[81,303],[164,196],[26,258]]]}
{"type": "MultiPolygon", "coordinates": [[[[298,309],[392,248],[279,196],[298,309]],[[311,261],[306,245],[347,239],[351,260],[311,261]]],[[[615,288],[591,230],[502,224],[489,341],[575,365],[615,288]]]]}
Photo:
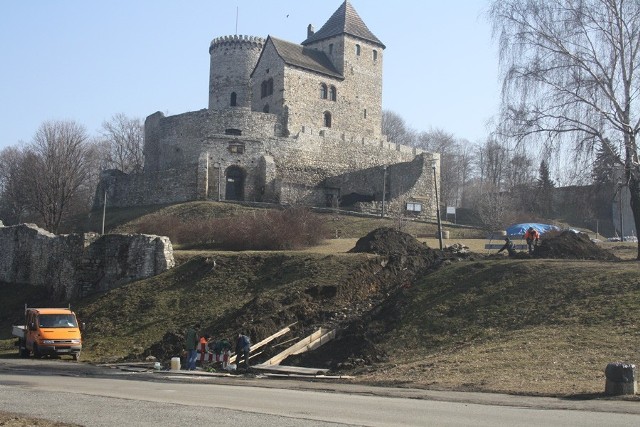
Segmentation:
{"type": "Polygon", "coordinates": [[[349,0],[342,3],[331,15],[331,18],[314,34],[302,42],[307,45],[319,40],[328,39],[330,37],[341,34],[349,34],[354,37],[369,41],[384,48],[384,44],[367,28],[358,12],[351,6],[349,0]]]}

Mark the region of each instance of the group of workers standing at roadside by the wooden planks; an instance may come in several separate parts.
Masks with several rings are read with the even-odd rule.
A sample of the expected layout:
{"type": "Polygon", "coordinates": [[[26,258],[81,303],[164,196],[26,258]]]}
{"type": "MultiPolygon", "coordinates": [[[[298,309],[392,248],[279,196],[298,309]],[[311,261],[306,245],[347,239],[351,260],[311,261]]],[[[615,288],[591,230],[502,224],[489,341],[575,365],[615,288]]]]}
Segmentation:
{"type": "MultiPolygon", "coordinates": [[[[194,371],[198,360],[198,351],[212,353],[215,357],[212,362],[219,364],[223,369],[227,368],[231,356],[231,342],[227,338],[213,339],[209,335],[200,335],[200,324],[189,326],[185,331],[186,364],[185,369],[194,371]]],[[[243,332],[238,332],[236,338],[236,362],[240,366],[240,360],[244,359],[245,369],[249,369],[249,353],[251,351],[251,339],[243,332]]]]}

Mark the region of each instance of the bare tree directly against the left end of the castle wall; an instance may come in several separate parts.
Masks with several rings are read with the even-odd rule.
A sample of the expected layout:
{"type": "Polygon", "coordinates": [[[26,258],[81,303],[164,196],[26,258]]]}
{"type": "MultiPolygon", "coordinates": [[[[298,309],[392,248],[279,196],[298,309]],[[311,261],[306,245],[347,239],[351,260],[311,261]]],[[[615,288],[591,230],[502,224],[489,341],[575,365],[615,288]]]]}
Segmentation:
{"type": "Polygon", "coordinates": [[[102,123],[107,168],[125,173],[141,172],[144,166],[144,126],[140,119],[119,113],[102,123]]]}

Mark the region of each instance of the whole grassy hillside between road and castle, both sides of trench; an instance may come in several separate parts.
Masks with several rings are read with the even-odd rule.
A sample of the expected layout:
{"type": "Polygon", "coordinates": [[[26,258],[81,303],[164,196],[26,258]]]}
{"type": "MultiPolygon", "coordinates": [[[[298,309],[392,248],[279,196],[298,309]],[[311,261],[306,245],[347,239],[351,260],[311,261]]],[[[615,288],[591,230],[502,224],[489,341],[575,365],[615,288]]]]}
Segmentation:
{"type": "MultiPolygon", "coordinates": [[[[329,218],[362,230],[380,224],[329,218]]],[[[416,234],[433,231],[415,226],[424,227],[416,234]]],[[[162,275],[73,302],[87,323],[83,360],[166,360],[179,351],[184,327],[199,321],[213,336],[247,330],[254,342],[295,322],[283,340],[319,326],[338,328],[340,339],[287,363],[393,386],[597,395],[607,363],[638,362],[640,265],[633,261],[480,254],[432,268],[403,257],[312,251],[176,251],[176,257],[179,265],[162,275]]],[[[9,325],[23,303],[44,296],[38,289],[5,290],[0,346],[9,351],[9,325]]],[[[282,348],[266,348],[260,357],[282,348]]]]}

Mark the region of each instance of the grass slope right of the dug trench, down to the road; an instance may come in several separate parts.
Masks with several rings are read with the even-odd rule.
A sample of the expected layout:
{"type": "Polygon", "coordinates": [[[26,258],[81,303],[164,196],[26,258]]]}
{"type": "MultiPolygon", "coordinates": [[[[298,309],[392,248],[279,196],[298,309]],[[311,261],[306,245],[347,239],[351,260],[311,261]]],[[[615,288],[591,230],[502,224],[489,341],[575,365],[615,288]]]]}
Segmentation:
{"type": "Polygon", "coordinates": [[[370,381],[527,394],[597,394],[607,363],[637,363],[640,266],[492,260],[440,269],[404,292],[370,381]]]}

